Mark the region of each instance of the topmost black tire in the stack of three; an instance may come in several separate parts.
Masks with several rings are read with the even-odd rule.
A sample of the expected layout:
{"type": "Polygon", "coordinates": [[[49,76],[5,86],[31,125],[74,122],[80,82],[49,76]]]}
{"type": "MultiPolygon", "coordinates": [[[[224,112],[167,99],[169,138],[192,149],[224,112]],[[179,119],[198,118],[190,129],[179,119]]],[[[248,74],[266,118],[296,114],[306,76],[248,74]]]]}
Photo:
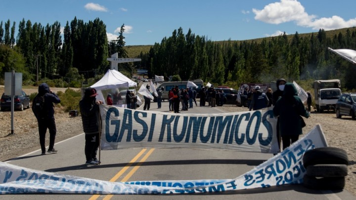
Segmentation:
{"type": "Polygon", "coordinates": [[[307,168],[314,164],[349,164],[347,153],[335,147],[321,147],[307,151],[303,156],[303,165],[307,168]]]}

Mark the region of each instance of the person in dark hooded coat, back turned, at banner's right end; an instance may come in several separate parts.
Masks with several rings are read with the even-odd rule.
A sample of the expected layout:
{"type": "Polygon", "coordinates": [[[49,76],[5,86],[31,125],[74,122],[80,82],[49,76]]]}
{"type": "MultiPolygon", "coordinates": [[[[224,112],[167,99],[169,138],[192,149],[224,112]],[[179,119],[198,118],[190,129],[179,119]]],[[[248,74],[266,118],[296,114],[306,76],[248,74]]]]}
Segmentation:
{"type": "Polygon", "coordinates": [[[282,137],[283,150],[299,139],[303,134],[303,117],[309,118],[302,100],[298,97],[297,89],[293,83],[286,83],[283,95],[277,100],[273,108],[273,115],[279,118],[279,126],[282,137]]]}

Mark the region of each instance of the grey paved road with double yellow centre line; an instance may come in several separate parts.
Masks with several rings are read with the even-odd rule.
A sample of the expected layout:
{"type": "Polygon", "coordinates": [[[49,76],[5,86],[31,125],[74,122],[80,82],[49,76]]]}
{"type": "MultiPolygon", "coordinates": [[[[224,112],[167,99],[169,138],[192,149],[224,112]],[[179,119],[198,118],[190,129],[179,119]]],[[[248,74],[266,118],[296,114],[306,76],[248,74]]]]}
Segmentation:
{"type": "MultiPolygon", "coordinates": [[[[152,111],[169,112],[168,102],[162,102],[162,109],[152,111]]],[[[139,109],[142,109],[139,108],[139,109]]],[[[181,113],[212,114],[222,113],[219,107],[194,107],[181,113]]],[[[205,151],[187,149],[129,149],[102,151],[100,165],[86,166],[84,156],[84,134],[57,143],[58,154],[39,156],[40,150],[31,152],[9,163],[32,169],[87,177],[104,181],[136,180],[195,180],[230,179],[240,176],[272,157],[270,154],[232,151],[205,151]]],[[[314,191],[302,185],[249,189],[220,194],[199,195],[0,195],[2,199],[13,200],[355,200],[348,191],[314,191]]]]}

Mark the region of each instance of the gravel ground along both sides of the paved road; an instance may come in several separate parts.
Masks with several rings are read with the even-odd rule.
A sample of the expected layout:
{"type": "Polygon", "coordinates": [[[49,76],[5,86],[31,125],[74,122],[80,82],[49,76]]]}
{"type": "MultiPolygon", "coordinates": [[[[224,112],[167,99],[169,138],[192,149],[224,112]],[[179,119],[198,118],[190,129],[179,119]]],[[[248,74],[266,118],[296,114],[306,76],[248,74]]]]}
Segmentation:
{"type": "MultiPolygon", "coordinates": [[[[53,91],[65,91],[66,88],[51,88],[53,91]]],[[[37,92],[36,90],[26,90],[27,94],[37,92]]],[[[0,94],[3,86],[0,86],[0,94]]],[[[224,105],[216,107],[228,112],[247,111],[247,108],[224,105]]],[[[68,113],[63,113],[59,108],[55,108],[55,120],[57,126],[56,142],[70,138],[83,132],[82,120],[80,117],[69,118],[68,113]]],[[[11,112],[0,112],[0,160],[5,161],[11,158],[40,149],[37,120],[31,109],[14,112],[14,134],[11,132],[11,112]]],[[[346,177],[346,190],[356,196],[356,121],[351,117],[337,119],[336,115],[330,112],[316,113],[312,111],[311,117],[305,119],[307,126],[303,129],[308,133],[316,124],[321,124],[326,140],[330,147],[342,148],[348,153],[349,166],[346,177]]],[[[46,145],[49,144],[48,132],[46,145]]],[[[40,154],[40,151],[39,151],[40,154]]]]}

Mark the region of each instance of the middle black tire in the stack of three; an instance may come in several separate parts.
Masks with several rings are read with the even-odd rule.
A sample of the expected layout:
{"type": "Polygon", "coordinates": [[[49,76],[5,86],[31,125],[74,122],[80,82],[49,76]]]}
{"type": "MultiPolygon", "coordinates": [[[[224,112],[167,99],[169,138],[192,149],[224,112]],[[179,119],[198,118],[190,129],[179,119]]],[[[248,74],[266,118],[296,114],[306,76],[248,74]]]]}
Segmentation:
{"type": "Polygon", "coordinates": [[[307,175],[312,177],[344,177],[347,173],[346,164],[315,164],[307,167],[307,175]]]}

